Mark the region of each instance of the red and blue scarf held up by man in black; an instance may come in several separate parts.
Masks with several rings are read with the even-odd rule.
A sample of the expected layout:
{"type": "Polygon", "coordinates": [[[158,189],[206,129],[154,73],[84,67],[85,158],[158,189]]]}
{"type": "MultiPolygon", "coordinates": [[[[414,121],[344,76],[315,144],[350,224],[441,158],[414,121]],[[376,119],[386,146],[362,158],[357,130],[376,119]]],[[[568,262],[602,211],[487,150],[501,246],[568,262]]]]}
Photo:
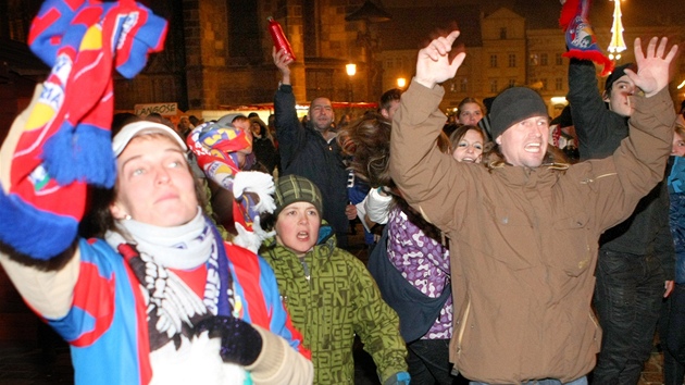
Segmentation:
{"type": "Polygon", "coordinates": [[[602,65],[601,76],[607,76],[613,71],[613,62],[607,58],[599,47],[597,37],[593,30],[587,13],[590,0],[568,0],[561,8],[559,25],[565,33],[568,52],[566,58],[591,60],[602,65]]]}

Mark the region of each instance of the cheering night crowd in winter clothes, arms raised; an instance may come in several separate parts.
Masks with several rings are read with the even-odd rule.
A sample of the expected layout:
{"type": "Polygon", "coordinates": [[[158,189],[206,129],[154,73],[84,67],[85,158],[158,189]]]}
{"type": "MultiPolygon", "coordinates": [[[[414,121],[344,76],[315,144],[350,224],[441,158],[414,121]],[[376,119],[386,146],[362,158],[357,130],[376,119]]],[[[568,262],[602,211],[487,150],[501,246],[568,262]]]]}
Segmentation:
{"type": "Polygon", "coordinates": [[[39,85],[0,149],[0,264],[71,345],[75,382],[352,384],[359,337],[383,385],[637,384],[658,331],[682,384],[677,46],[636,39],[601,94],[571,59],[555,120],[526,87],[448,120],[458,36],[337,124],[326,97],[298,117],[294,59],[274,48],[267,123],[113,115],[111,158],[62,152],[71,178],[39,85]],[[347,251],[356,218],[368,265],[347,251]]]}

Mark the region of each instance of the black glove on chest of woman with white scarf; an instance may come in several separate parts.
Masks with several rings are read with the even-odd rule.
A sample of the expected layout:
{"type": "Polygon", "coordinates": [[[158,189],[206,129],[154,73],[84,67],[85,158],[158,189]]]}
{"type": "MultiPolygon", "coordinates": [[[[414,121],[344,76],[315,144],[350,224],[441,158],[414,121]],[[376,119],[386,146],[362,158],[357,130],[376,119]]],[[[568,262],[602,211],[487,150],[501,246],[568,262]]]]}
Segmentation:
{"type": "Polygon", "coordinates": [[[221,337],[221,358],[224,362],[248,367],[262,351],[262,336],[249,323],[234,316],[216,315],[196,326],[196,335],[209,332],[212,338],[221,337]]]}

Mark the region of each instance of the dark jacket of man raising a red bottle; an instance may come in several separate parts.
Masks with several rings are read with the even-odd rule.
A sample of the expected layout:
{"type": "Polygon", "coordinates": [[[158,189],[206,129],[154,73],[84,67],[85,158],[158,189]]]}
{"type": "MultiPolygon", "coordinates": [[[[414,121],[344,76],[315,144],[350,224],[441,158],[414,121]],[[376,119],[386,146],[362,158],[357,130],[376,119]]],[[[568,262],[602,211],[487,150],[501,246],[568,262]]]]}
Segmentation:
{"type": "Polygon", "coordinates": [[[292,87],[282,85],[274,98],[276,137],[281,152],[282,175],[300,175],[312,181],[323,196],[323,219],[336,231],[338,245],[347,245],[349,221],[347,175],[337,140],[326,142],[311,125],[303,127],[297,119],[292,87]]]}

